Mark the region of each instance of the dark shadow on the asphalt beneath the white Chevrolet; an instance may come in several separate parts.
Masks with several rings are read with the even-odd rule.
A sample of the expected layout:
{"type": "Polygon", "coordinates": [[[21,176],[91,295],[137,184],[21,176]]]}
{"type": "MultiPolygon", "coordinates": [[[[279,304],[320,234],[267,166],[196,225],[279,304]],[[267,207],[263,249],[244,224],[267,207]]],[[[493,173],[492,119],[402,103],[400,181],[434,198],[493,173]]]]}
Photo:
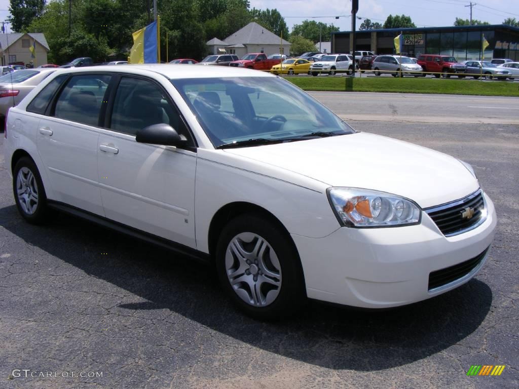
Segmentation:
{"type": "Polygon", "coordinates": [[[398,309],[361,311],[309,302],[296,317],[262,323],[234,309],[211,266],[203,263],[59,213],[48,225],[31,226],[14,205],[7,206],[0,209],[0,225],[16,235],[13,239],[129,291],[135,301],[145,300],[120,302],[114,310],[143,315],[169,310],[194,321],[193,326],[199,323],[256,348],[330,369],[388,369],[439,353],[475,331],[493,299],[487,284],[472,280],[398,309]]]}

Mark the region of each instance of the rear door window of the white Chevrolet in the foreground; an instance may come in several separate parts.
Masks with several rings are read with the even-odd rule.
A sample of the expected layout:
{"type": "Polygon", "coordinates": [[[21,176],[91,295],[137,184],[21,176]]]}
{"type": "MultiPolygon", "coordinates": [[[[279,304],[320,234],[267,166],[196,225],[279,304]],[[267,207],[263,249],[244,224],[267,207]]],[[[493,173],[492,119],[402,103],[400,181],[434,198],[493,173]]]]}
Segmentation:
{"type": "Polygon", "coordinates": [[[72,76],[56,102],[54,117],[98,126],[110,77],[100,74],[72,76]]]}

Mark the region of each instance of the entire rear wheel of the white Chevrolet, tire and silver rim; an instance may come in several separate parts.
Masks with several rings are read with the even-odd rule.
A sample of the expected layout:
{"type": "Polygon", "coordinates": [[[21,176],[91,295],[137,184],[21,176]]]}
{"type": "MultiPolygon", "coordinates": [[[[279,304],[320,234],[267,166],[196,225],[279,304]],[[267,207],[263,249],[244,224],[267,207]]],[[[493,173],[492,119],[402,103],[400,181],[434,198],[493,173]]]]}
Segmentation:
{"type": "Polygon", "coordinates": [[[20,215],[31,224],[42,224],[47,216],[47,196],[38,168],[29,157],[16,163],[12,190],[20,215]]]}

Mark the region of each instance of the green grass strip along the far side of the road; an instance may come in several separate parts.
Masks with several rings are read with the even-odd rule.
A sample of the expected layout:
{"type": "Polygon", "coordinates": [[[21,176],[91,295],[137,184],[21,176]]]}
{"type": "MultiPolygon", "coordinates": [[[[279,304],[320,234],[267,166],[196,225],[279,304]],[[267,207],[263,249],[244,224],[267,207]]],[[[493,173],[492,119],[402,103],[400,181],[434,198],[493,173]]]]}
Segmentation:
{"type": "Polygon", "coordinates": [[[480,81],[414,77],[285,77],[307,91],[394,92],[519,96],[517,81],[480,81]]]}

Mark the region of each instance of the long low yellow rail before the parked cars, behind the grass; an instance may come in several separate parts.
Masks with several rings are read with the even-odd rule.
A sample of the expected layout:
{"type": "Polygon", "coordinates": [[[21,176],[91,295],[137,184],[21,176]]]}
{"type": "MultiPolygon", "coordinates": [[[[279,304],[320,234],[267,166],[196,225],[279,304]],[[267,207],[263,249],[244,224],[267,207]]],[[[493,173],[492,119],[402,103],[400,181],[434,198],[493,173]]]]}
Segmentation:
{"type": "MultiPolygon", "coordinates": [[[[283,71],[272,71],[272,70],[264,70],[263,72],[270,72],[272,74],[276,74],[276,75],[280,75],[280,76],[297,76],[297,75],[301,75],[301,74],[312,74],[313,75],[319,75],[319,74],[326,74],[326,75],[338,75],[338,74],[344,74],[346,73],[348,76],[351,76],[352,73],[353,73],[353,70],[352,69],[348,69],[348,70],[337,70],[337,69],[330,69],[330,70],[322,70],[322,69],[311,69],[311,70],[308,70],[308,71],[303,71],[303,70],[288,70],[288,69],[284,69],[283,71]],[[292,71],[292,73],[289,73],[290,71],[292,71]]],[[[402,71],[402,70],[399,70],[399,71],[391,71],[391,70],[369,70],[369,69],[359,69],[357,68],[355,70],[355,73],[358,73],[359,74],[359,77],[362,77],[362,74],[364,73],[374,73],[376,76],[378,75],[381,75],[381,74],[391,74],[393,77],[404,77],[405,76],[414,76],[414,77],[425,77],[427,75],[433,75],[434,77],[436,78],[450,78],[451,76],[455,76],[455,77],[458,77],[458,78],[465,78],[465,77],[473,77],[475,79],[479,79],[479,78],[482,78],[482,79],[499,79],[499,80],[506,80],[506,79],[516,79],[516,78],[519,78],[519,76],[514,76],[512,74],[508,74],[508,75],[494,75],[494,74],[491,74],[489,72],[485,72],[485,73],[448,73],[448,72],[427,72],[427,71],[402,71]],[[377,74],[378,73],[378,74],[377,74]]]]}

